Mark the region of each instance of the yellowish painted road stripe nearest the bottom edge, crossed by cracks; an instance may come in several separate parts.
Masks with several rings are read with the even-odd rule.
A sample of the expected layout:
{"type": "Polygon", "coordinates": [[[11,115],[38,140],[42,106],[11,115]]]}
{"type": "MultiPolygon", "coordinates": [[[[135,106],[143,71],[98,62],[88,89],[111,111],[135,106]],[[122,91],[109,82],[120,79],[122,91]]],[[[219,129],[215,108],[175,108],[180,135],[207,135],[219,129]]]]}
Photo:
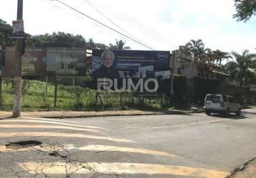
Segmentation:
{"type": "Polygon", "coordinates": [[[177,176],[191,176],[194,177],[211,177],[211,178],[224,178],[229,175],[228,172],[220,172],[212,169],[203,169],[197,167],[182,167],[163,164],[140,164],[140,163],[126,163],[126,162],[85,162],[67,164],[65,162],[24,162],[19,166],[24,171],[30,174],[44,172],[44,174],[169,174],[177,176]],[[75,164],[75,165],[74,165],[75,164]],[[80,165],[80,166],[79,166],[80,165]]]}

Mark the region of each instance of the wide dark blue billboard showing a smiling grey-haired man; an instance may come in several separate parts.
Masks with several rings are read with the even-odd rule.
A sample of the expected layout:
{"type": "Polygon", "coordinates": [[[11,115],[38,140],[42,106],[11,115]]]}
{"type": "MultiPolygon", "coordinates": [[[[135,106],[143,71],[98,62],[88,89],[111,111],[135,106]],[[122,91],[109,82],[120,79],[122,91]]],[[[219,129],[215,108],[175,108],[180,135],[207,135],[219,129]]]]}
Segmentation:
{"type": "Polygon", "coordinates": [[[92,51],[94,78],[167,78],[169,51],[92,51]]]}

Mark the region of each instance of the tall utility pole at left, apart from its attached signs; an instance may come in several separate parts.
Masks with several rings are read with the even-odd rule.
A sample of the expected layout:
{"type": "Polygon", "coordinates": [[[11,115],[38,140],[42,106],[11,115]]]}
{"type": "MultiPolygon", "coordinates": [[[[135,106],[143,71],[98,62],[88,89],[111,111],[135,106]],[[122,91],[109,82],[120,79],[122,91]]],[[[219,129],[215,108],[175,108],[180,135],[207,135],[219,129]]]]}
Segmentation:
{"type": "MultiPolygon", "coordinates": [[[[18,0],[17,20],[23,19],[23,0],[18,0]]],[[[21,115],[21,58],[24,51],[24,38],[16,38],[14,75],[13,117],[21,115]]]]}

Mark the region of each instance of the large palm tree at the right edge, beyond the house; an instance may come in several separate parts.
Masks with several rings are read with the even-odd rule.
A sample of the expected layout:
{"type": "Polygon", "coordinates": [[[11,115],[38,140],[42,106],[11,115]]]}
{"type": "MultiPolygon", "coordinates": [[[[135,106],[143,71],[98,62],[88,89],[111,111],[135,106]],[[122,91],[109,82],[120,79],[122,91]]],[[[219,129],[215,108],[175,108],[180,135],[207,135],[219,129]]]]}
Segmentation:
{"type": "Polygon", "coordinates": [[[242,54],[232,52],[232,56],[235,57],[236,61],[226,64],[226,68],[230,75],[239,80],[240,86],[247,87],[249,83],[256,83],[256,54],[245,50],[242,54]]]}

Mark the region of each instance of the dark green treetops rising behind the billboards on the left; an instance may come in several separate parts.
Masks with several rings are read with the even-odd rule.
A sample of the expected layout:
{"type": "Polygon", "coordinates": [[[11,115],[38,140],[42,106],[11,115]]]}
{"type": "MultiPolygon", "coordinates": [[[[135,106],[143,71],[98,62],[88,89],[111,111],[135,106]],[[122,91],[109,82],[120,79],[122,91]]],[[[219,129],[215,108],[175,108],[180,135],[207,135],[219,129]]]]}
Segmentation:
{"type": "MultiPolygon", "coordinates": [[[[0,19],[0,58],[4,56],[5,46],[13,46],[14,41],[11,40],[12,27],[0,19]],[[2,56],[2,57],[1,57],[2,56]]],[[[95,43],[92,38],[86,40],[81,35],[73,35],[71,33],[54,32],[52,34],[45,33],[44,35],[31,36],[26,33],[26,46],[28,47],[67,47],[67,48],[87,48],[87,49],[130,49],[125,46],[125,41],[116,40],[115,44],[109,43],[109,46],[104,43],[95,43]]]]}

